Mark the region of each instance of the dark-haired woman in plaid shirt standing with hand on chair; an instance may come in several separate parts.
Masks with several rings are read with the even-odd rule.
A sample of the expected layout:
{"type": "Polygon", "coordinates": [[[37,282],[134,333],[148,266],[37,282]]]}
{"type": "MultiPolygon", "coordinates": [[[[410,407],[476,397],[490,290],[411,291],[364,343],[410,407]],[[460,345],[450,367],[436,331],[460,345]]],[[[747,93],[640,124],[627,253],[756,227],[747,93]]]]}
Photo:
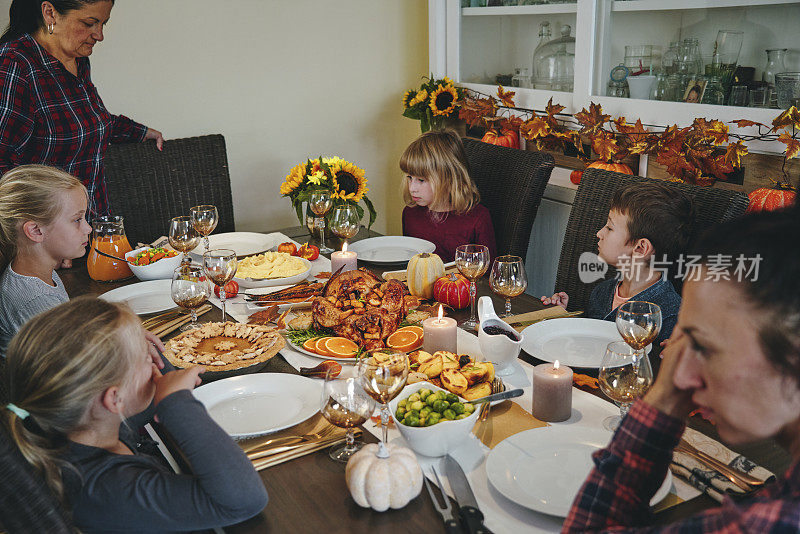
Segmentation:
{"type": "Polygon", "coordinates": [[[13,0],[0,37],[0,174],[26,163],[83,182],[89,215],[109,213],[103,158],[109,143],[161,132],[112,115],[92,83],[89,56],[103,40],[113,0],[13,0]]]}

